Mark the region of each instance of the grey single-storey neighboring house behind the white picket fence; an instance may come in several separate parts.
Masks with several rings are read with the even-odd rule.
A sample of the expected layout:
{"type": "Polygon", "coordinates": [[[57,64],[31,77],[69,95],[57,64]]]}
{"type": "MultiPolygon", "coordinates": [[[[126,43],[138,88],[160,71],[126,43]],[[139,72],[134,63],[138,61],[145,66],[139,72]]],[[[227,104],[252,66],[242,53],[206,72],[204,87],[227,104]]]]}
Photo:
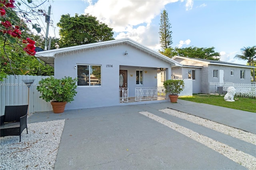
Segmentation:
{"type": "Polygon", "coordinates": [[[223,61],[174,56],[182,67],[172,68],[174,79],[193,79],[193,93],[208,94],[210,82],[250,83],[253,66],[223,61]]]}

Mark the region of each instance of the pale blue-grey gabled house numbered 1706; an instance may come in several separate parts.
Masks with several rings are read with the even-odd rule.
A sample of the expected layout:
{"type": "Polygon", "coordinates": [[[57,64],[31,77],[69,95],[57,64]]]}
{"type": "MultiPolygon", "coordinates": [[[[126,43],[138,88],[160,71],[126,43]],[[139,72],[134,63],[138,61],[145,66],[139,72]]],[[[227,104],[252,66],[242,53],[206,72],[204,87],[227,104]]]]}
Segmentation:
{"type": "Polygon", "coordinates": [[[56,78],[78,77],[78,93],[66,109],[122,105],[120,87],[134,97],[136,87],[157,87],[160,68],[171,79],[171,67],[182,67],[129,38],[39,51],[36,57],[54,67],[56,78]]]}

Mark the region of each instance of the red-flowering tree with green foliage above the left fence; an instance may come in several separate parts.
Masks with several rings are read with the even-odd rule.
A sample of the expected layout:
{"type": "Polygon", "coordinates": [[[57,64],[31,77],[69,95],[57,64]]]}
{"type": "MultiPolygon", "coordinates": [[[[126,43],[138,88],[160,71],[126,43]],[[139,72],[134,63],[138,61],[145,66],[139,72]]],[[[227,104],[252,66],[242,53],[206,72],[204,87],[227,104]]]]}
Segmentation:
{"type": "MultiPolygon", "coordinates": [[[[32,0],[27,2],[31,4],[32,0]]],[[[31,71],[31,63],[39,63],[34,57],[35,41],[27,24],[31,24],[39,33],[41,29],[37,24],[32,24],[30,16],[43,15],[43,11],[36,12],[35,7],[30,7],[22,1],[27,7],[27,12],[20,9],[20,2],[14,3],[14,0],[0,0],[0,81],[8,74],[26,74],[31,71]]]]}

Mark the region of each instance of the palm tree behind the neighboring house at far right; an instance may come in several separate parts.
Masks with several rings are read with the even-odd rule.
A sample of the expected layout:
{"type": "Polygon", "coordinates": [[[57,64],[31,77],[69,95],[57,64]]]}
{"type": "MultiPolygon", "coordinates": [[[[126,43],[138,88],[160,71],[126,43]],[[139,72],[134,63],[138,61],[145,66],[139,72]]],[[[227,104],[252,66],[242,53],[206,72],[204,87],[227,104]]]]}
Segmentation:
{"type": "MultiPolygon", "coordinates": [[[[256,60],[256,46],[244,47],[241,49],[243,55],[236,55],[234,58],[248,60],[250,66],[254,66],[254,60],[256,60]]],[[[252,69],[253,81],[255,81],[255,71],[252,69]]]]}

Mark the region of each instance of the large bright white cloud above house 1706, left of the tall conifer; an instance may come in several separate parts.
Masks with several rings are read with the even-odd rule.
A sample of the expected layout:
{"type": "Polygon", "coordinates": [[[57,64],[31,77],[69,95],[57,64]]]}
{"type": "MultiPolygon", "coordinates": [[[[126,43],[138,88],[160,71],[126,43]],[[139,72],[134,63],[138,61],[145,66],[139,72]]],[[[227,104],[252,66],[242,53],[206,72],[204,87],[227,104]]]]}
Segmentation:
{"type": "Polygon", "coordinates": [[[159,16],[166,4],[178,0],[87,0],[84,13],[96,16],[113,28],[115,39],[131,38],[152,49],[160,49],[159,25],[152,19],[159,16]],[[157,36],[156,36],[157,35],[157,36]]]}

